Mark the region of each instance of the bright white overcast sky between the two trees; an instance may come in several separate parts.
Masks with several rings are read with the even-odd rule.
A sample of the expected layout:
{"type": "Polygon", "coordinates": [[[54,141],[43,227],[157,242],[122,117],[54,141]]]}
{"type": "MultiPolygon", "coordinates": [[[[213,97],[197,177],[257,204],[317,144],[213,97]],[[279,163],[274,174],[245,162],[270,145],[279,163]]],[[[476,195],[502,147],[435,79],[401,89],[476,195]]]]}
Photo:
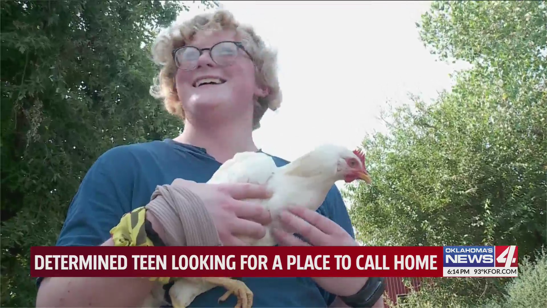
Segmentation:
{"type": "Polygon", "coordinates": [[[221,3],[278,50],[283,102],[254,133],[272,155],[292,161],[324,142],[357,147],[382,130],[386,101],[404,104],[408,92],[429,100],[451,87],[455,66],[418,39],[429,1],[221,3]]]}

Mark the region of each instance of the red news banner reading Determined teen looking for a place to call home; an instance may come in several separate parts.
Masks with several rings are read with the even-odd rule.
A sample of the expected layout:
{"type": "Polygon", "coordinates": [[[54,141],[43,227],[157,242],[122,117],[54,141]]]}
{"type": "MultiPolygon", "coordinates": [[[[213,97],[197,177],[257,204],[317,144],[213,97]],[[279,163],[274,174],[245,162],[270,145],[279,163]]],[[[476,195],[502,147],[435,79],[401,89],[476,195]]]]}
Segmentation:
{"type": "Polygon", "coordinates": [[[516,246],[32,247],[32,277],[517,277],[516,246]]]}

